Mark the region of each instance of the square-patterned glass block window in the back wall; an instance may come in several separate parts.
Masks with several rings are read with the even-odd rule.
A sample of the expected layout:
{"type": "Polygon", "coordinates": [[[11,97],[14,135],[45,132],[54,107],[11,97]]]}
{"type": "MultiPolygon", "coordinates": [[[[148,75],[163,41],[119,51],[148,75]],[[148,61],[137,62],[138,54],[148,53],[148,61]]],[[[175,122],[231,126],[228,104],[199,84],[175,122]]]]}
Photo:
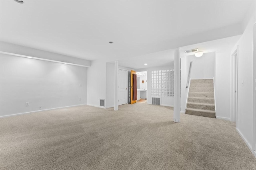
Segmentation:
{"type": "Polygon", "coordinates": [[[154,70],[151,76],[152,96],[174,97],[174,70],[154,70]]]}

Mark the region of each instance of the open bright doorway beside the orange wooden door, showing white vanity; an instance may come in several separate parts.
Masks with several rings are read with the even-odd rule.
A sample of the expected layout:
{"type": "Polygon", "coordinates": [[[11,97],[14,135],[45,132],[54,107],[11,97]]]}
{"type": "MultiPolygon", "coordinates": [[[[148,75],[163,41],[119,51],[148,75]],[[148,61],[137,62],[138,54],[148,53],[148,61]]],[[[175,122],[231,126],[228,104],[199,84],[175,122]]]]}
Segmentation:
{"type": "Polygon", "coordinates": [[[147,103],[147,71],[137,72],[137,102],[147,103]]]}

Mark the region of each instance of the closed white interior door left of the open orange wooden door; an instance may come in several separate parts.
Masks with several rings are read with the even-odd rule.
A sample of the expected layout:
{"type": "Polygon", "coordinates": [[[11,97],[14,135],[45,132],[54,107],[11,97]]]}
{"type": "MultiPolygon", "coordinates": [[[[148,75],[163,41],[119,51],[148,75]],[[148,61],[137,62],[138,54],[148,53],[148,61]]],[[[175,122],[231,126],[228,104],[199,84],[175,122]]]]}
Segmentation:
{"type": "Polygon", "coordinates": [[[118,89],[119,89],[119,97],[118,97],[118,105],[127,104],[128,103],[128,71],[119,69],[119,79],[118,79],[118,89]]]}

